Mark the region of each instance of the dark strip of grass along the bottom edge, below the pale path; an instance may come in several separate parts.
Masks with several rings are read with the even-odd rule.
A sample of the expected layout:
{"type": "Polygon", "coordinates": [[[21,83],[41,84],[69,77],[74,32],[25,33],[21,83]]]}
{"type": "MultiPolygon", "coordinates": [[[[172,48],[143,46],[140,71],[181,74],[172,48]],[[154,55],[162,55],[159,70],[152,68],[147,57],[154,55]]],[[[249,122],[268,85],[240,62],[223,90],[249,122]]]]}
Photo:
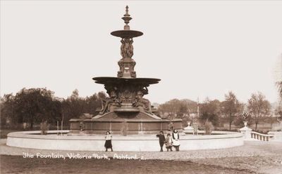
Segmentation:
{"type": "Polygon", "coordinates": [[[118,159],[24,159],[1,155],[1,173],[253,173],[248,169],[194,163],[192,161],[118,159]]]}

